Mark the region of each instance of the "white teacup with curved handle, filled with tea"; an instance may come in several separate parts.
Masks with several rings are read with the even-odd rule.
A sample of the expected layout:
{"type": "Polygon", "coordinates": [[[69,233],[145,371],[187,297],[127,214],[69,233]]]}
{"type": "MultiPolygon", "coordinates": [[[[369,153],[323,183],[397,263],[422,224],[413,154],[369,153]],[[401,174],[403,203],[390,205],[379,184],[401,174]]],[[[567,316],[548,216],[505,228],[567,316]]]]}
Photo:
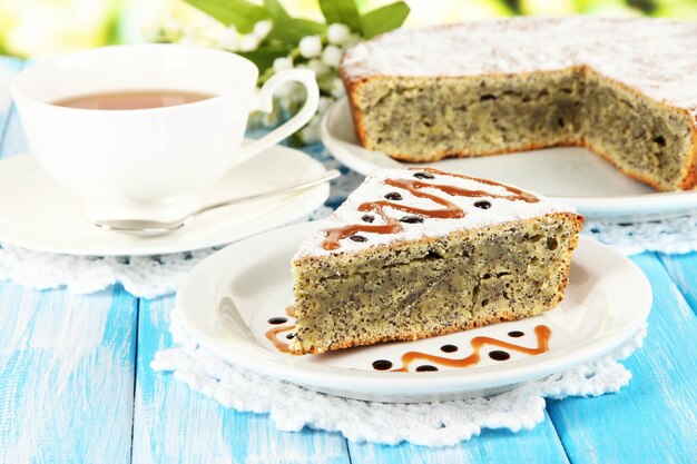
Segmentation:
{"type": "Polygon", "coordinates": [[[227,51],[176,45],[117,46],[48,59],[11,85],[31,151],[61,186],[86,200],[89,217],[168,216],[229,168],[298,130],[313,117],[311,70],[276,73],[257,92],[256,66],[227,51]],[[244,144],[251,111],[272,110],[278,86],[307,90],[302,110],[244,144]],[[179,90],[215,97],[170,107],[102,110],[52,105],[114,91],[179,90]]]}

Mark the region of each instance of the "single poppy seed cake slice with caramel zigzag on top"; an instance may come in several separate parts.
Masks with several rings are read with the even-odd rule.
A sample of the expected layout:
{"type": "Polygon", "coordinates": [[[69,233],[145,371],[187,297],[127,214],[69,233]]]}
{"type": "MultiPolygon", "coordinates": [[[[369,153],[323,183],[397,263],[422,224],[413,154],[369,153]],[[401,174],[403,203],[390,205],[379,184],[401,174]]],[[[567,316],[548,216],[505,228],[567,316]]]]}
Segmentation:
{"type": "Polygon", "coordinates": [[[293,258],[289,349],[316,354],[539,315],[563,297],[583,217],[516,187],[381,170],[293,258]]]}

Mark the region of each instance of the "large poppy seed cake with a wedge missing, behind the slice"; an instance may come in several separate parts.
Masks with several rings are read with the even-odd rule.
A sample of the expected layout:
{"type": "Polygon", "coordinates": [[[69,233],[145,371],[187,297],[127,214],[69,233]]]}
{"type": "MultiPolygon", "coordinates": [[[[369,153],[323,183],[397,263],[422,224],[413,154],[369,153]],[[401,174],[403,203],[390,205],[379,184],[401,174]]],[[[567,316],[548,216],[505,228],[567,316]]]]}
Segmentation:
{"type": "Polygon", "coordinates": [[[513,18],[400,29],[341,65],[363,146],[405,161],[585,146],[659,190],[697,182],[697,23],[513,18]]]}

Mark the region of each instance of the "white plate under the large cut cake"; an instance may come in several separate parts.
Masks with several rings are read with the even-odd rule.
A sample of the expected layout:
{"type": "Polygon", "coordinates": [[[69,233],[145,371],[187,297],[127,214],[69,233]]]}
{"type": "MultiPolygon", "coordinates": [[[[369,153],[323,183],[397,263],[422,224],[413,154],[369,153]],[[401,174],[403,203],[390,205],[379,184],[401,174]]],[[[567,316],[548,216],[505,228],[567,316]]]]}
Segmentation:
{"type": "MultiPolygon", "coordinates": [[[[363,175],[375,168],[405,168],[424,164],[400,162],[366,150],[356,139],[345,99],[324,116],[322,141],[344,165],[363,175]]],[[[697,209],[697,191],[656,192],[622,175],[586,148],[548,148],[477,158],[449,158],[428,166],[445,171],[491,178],[554,197],[589,218],[646,220],[697,209]]]]}

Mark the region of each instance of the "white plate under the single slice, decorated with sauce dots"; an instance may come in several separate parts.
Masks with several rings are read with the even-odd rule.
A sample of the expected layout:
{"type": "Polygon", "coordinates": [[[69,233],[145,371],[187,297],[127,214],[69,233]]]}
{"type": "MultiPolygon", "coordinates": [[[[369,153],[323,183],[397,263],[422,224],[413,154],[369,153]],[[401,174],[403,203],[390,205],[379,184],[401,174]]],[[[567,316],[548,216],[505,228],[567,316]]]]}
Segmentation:
{"type": "Polygon", "coordinates": [[[542,316],[418,342],[293,356],[281,353],[265,334],[276,327],[268,319],[285,316],[293,303],[291,258],[315,227],[317,223],[307,223],[273,230],[202,261],[177,293],[177,314],[186,329],[230,363],[311,389],[360,399],[425,402],[498,393],[597,358],[636,334],[651,307],[651,288],[636,265],[581,238],[566,298],[542,316]],[[439,366],[442,372],[390,373],[372,366],[376,359],[399,366],[410,351],[462,358],[471,354],[470,340],[480,335],[533,347],[533,328],[540,324],[551,328],[550,349],[537,356],[511,352],[509,361],[498,362],[483,351],[480,364],[454,371],[439,366]],[[526,335],[512,338],[512,330],[526,335]],[[448,344],[458,352],[441,353],[448,344]]]}

